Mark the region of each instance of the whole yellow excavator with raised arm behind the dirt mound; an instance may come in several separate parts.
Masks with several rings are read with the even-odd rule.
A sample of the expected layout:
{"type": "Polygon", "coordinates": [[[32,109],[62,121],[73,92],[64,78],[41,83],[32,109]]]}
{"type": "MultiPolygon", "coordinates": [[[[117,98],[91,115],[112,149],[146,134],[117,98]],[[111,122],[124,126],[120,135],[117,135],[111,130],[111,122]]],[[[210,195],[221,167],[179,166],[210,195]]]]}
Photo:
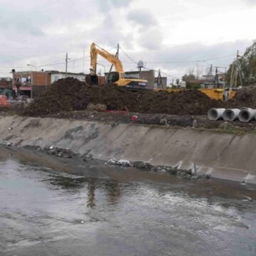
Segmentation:
{"type": "Polygon", "coordinates": [[[108,74],[107,84],[114,84],[117,86],[126,87],[131,90],[139,90],[139,89],[146,88],[146,85],[148,84],[147,80],[125,78],[125,73],[124,73],[121,60],[119,60],[117,56],[107,52],[107,50],[104,50],[103,48],[96,46],[95,43],[92,43],[90,47],[91,68],[90,68],[90,75],[87,75],[87,77],[85,78],[87,83],[89,83],[90,85],[98,85],[97,55],[102,56],[103,58],[105,58],[105,60],[112,63],[112,65],[114,65],[114,68],[116,70],[108,74]]]}

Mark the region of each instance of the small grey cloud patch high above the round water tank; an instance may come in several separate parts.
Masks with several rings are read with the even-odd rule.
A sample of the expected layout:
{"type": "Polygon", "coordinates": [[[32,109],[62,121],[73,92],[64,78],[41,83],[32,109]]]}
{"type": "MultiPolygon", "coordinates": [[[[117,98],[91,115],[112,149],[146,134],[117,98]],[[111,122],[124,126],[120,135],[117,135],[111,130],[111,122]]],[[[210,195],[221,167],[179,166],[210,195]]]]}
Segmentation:
{"type": "Polygon", "coordinates": [[[157,21],[153,14],[150,11],[145,10],[133,10],[129,11],[127,18],[134,23],[137,23],[141,26],[156,26],[157,21]]]}

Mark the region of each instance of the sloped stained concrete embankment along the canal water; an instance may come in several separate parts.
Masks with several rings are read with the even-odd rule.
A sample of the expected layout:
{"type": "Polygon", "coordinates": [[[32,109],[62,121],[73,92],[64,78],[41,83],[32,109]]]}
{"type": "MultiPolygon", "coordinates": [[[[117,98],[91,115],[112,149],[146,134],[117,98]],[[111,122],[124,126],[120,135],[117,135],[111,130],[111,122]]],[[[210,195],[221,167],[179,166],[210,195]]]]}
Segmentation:
{"type": "Polygon", "coordinates": [[[0,142],[57,146],[97,159],[129,159],[193,169],[215,178],[256,183],[256,135],[221,134],[134,124],[1,117],[0,142]]]}

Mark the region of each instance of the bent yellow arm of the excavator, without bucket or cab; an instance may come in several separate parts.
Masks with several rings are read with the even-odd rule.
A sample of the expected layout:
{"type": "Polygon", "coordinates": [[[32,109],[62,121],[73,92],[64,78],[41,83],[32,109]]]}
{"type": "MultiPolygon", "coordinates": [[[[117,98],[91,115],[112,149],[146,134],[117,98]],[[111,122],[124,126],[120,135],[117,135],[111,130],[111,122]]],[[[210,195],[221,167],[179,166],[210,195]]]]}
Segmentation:
{"type": "Polygon", "coordinates": [[[96,47],[95,43],[92,43],[90,48],[90,58],[91,58],[91,74],[97,74],[97,55],[102,56],[105,60],[109,61],[114,65],[115,70],[120,73],[124,73],[122,63],[116,56],[112,55],[111,53],[107,52],[100,47],[96,47]]]}

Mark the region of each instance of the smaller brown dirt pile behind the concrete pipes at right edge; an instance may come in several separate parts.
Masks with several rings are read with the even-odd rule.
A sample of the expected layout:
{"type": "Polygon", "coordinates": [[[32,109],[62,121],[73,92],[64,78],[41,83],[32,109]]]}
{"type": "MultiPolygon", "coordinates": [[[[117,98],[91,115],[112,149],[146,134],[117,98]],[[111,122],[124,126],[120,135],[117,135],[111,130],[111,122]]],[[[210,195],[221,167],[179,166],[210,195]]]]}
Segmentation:
{"type": "Polygon", "coordinates": [[[235,97],[225,102],[225,107],[251,107],[256,108],[256,88],[244,87],[239,90],[235,97]]]}

